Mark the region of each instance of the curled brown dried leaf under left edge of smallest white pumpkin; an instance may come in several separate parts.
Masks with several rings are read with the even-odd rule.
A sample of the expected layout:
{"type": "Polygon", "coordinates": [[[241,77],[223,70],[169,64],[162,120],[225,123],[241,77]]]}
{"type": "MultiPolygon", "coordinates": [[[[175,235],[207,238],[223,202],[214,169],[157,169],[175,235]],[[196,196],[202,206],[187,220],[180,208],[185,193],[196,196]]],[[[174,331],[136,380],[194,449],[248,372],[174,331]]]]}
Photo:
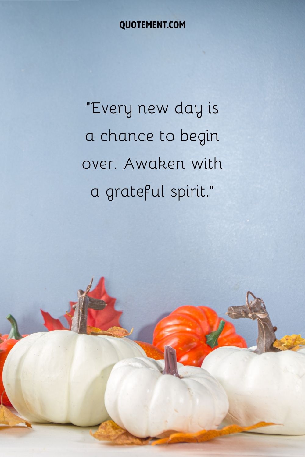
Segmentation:
{"type": "Polygon", "coordinates": [[[113,420],[106,420],[98,427],[95,433],[90,430],[91,436],[100,441],[112,441],[115,444],[136,444],[138,446],[148,444],[150,437],[138,438],[131,435],[127,430],[122,429],[113,420]]]}

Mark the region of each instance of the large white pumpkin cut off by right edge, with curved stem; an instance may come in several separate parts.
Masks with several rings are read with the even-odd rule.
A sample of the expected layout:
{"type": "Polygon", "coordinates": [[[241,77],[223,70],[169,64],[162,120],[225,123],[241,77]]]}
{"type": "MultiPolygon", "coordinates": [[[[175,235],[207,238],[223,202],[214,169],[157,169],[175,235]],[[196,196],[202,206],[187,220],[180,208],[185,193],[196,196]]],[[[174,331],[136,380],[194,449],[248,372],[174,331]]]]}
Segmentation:
{"type": "Polygon", "coordinates": [[[279,435],[305,434],[305,350],[278,351],[273,347],[275,330],[260,298],[246,306],[228,309],[233,319],[257,319],[257,347],[219,347],[202,367],[218,379],[229,398],[225,425],[273,422],[254,432],[279,435]]]}

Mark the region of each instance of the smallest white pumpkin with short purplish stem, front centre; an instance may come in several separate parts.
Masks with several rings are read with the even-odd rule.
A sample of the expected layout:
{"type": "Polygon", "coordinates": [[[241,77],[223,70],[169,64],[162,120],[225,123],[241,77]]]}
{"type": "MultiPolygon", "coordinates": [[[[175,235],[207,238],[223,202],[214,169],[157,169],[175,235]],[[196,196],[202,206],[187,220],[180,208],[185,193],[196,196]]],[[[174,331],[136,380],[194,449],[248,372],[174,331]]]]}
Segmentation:
{"type": "Polygon", "coordinates": [[[208,372],[165,360],[126,359],[112,369],[105,392],[108,414],[134,436],[166,436],[216,428],[227,414],[225,390],[208,372]]]}

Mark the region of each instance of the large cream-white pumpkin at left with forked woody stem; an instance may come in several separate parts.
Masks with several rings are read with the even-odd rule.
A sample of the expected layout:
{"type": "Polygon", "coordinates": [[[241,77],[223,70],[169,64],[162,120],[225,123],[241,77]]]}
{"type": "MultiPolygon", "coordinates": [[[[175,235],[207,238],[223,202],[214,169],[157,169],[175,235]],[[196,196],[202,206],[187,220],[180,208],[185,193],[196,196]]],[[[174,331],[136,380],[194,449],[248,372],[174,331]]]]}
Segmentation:
{"type": "Polygon", "coordinates": [[[104,393],[113,365],[127,357],[145,357],[143,349],[128,338],[85,334],[87,308],[106,306],[87,297],[88,291],[79,291],[74,331],[28,335],[7,356],[5,392],[14,408],[33,422],[85,427],[107,420],[104,393]]]}

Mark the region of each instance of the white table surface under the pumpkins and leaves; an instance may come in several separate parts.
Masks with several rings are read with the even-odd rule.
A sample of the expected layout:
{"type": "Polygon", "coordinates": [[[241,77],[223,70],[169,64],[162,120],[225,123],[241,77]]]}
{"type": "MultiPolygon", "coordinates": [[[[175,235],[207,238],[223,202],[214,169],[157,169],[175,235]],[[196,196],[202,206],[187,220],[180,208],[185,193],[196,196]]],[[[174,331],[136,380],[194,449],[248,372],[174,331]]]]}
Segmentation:
{"type": "Polygon", "coordinates": [[[97,441],[89,433],[91,428],[97,429],[60,424],[32,424],[32,429],[0,426],[0,453],[3,457],[305,457],[305,435],[239,433],[200,444],[115,446],[97,441]]]}

